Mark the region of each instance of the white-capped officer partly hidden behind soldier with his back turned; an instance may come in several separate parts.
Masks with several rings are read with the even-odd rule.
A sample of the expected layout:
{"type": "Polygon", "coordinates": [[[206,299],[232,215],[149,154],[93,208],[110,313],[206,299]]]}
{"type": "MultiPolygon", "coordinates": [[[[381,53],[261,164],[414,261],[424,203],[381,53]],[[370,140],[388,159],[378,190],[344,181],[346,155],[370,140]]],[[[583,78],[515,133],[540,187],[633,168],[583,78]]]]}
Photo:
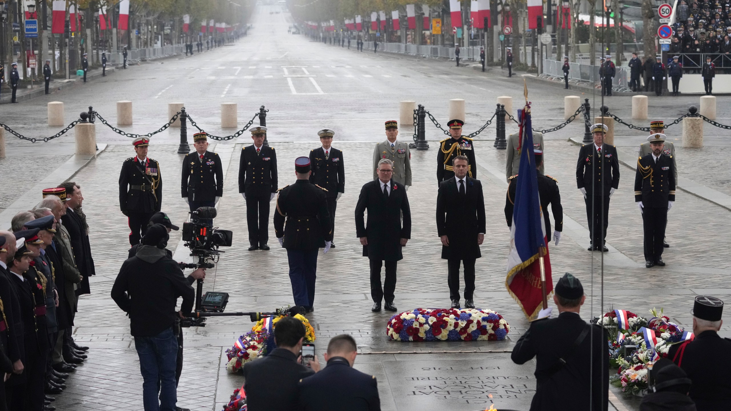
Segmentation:
{"type": "MultiPolygon", "coordinates": [[[[345,192],[345,165],[343,162],[343,151],[333,148],[333,137],[335,132],[332,129],[322,129],[317,132],[322,147],[310,151],[310,165],[312,173],[310,182],[325,189],[327,197],[327,214],[330,214],[330,230],[335,233],[335,210],[338,207],[338,200],[345,192]]],[[[330,243],[335,248],[335,242],[330,243]]]]}

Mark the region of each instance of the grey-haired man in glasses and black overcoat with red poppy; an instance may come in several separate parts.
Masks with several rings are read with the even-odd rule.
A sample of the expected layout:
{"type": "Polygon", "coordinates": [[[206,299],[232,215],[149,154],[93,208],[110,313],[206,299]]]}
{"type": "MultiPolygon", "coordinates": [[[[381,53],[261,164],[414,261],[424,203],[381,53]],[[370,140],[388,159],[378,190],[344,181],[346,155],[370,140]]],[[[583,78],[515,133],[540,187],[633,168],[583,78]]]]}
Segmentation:
{"type": "Polygon", "coordinates": [[[396,311],[393,292],[396,288],[396,263],[402,260],[401,246],[411,238],[411,209],[406,187],[393,181],[393,162],[381,159],[378,162],[378,179],[370,181],[360,189],[355,206],[355,232],[363,245],[363,257],[371,264],[371,311],[385,309],[396,311]],[[368,222],[363,223],[363,213],[368,210],[368,222]],[[401,214],[404,214],[403,226],[401,214]],[[386,279],[381,287],[382,261],[386,262],[386,279]]]}

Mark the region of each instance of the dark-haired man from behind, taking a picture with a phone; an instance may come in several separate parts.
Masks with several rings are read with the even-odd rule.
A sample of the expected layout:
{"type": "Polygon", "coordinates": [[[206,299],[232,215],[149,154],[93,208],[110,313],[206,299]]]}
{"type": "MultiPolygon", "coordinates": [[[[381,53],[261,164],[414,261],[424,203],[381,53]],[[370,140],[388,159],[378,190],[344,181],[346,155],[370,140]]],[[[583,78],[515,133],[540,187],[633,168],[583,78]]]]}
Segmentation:
{"type": "Polygon", "coordinates": [[[303,323],[294,317],[284,317],[274,327],[276,349],[260,360],[243,364],[247,410],[298,409],[298,382],[319,371],[317,356],[308,366],[300,364],[304,338],[303,323]]]}

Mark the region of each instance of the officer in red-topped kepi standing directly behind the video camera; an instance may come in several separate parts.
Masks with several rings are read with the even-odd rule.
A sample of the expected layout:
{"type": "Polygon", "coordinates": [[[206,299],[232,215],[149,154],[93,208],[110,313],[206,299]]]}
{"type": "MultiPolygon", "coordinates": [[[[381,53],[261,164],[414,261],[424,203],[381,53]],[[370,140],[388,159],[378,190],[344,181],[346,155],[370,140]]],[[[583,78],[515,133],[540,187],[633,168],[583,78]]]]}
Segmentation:
{"type": "Polygon", "coordinates": [[[198,207],[214,207],[224,195],[224,170],[217,153],[208,151],[208,135],[193,135],[195,151],[183,158],[181,195],[190,211],[198,207]]]}

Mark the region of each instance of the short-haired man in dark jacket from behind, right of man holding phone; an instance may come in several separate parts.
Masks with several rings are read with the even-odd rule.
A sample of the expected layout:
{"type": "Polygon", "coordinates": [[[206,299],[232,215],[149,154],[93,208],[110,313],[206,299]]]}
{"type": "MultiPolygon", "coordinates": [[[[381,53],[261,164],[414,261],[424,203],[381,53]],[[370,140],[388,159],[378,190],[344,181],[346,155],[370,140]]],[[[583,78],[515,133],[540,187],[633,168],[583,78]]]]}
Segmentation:
{"type": "Polygon", "coordinates": [[[376,376],[353,368],[356,355],[357,347],[352,336],[334,336],[327,344],[325,369],[300,380],[301,410],[380,411],[376,376]]]}

